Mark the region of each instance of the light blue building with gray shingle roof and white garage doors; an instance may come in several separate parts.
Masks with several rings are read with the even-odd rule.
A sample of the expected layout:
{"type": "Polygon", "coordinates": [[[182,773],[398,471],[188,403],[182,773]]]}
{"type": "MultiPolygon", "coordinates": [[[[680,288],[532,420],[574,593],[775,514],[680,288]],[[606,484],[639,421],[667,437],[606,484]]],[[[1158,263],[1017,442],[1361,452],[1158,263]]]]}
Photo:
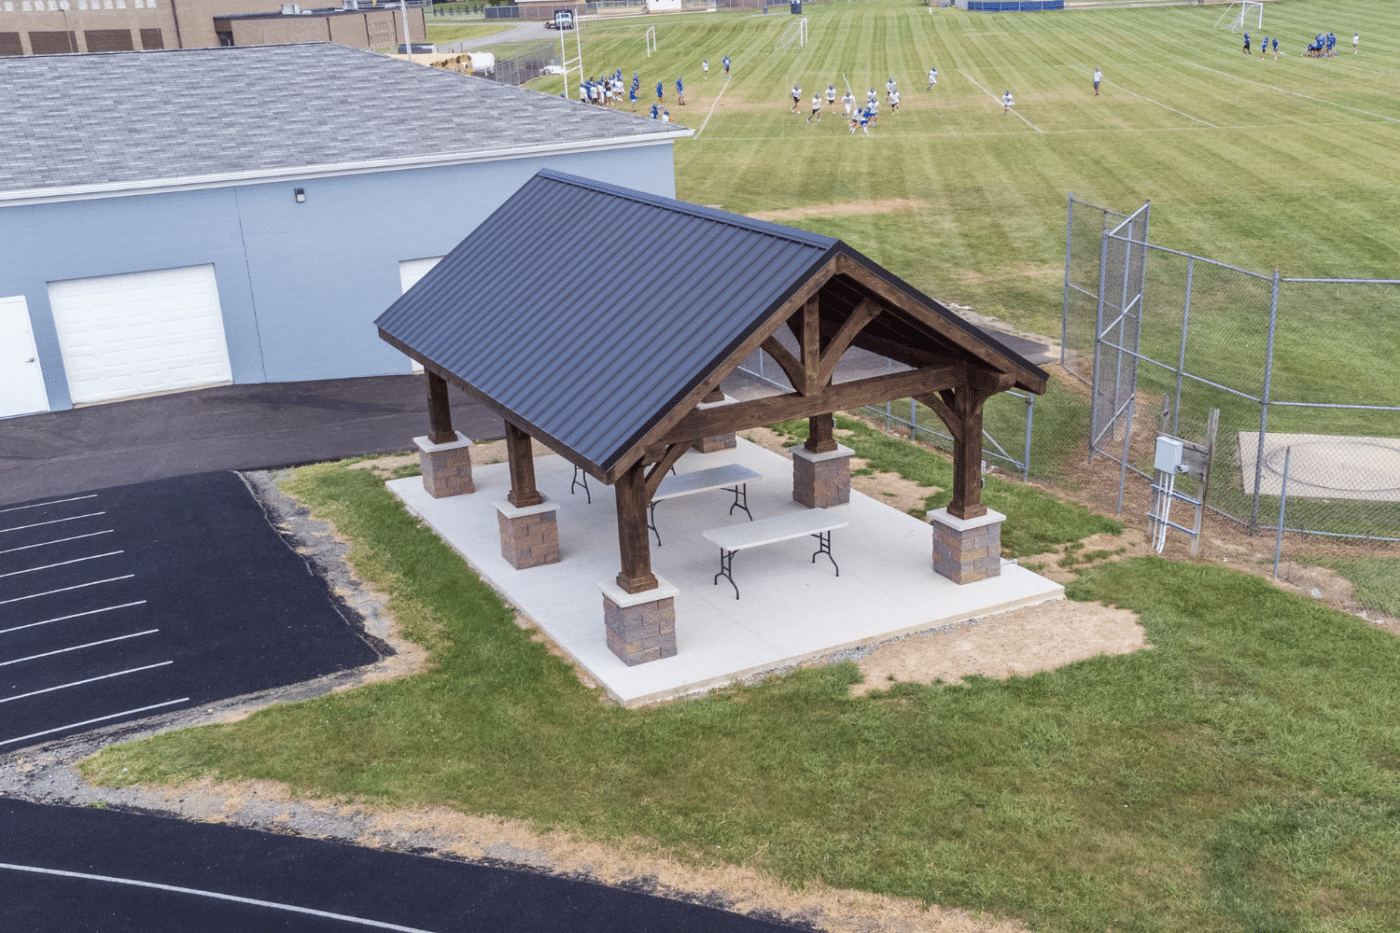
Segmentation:
{"type": "Polygon", "coordinates": [[[0,416],[407,373],[374,317],[538,170],[673,196],[690,133],[330,43],[0,59],[0,416]]]}

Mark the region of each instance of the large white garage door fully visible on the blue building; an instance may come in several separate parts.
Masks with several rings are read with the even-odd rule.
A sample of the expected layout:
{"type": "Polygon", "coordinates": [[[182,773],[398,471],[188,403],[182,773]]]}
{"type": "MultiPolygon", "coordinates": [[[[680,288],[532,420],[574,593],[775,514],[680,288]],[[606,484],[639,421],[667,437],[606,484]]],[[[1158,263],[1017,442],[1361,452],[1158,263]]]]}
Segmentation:
{"type": "Polygon", "coordinates": [[[49,283],[74,403],[232,381],[214,266],[49,283]]]}

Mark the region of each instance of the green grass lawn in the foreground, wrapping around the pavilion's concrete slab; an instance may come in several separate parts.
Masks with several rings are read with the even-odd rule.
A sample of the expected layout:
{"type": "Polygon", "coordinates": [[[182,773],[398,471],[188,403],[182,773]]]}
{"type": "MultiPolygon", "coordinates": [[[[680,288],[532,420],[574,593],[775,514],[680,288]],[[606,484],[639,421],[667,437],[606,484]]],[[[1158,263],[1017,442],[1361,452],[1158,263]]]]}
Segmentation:
{"type": "MultiPolygon", "coordinates": [[[[935,478],[932,454],[858,443],[935,478]]],[[[1400,643],[1316,601],[1217,567],[1105,563],[1071,597],[1135,609],[1151,650],[862,698],[843,664],[623,710],[367,471],[308,466],[291,488],[431,670],[115,747],[88,778],[270,779],[640,835],[696,864],[1042,930],[1400,927],[1400,643]]]]}

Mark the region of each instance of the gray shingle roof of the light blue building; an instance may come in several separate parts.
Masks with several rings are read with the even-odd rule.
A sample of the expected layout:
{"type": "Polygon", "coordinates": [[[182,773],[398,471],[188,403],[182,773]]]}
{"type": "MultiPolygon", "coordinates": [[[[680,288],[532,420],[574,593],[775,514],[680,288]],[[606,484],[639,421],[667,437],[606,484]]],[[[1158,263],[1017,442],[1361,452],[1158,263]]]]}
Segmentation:
{"type": "Polygon", "coordinates": [[[0,192],[451,164],[673,125],[329,42],[0,57],[0,192]]]}

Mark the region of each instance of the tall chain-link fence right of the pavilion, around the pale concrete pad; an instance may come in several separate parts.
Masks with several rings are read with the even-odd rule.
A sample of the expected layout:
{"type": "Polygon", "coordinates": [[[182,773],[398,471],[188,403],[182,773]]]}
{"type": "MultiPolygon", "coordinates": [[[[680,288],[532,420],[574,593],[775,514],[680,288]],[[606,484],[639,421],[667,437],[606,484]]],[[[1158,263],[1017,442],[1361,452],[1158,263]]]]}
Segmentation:
{"type": "MultiPolygon", "coordinates": [[[[1070,200],[1065,370],[1091,457],[1154,479],[1158,433],[1219,429],[1205,507],[1252,534],[1400,541],[1400,280],[1263,275],[1147,240],[1147,214],[1070,200]]],[[[1183,476],[1179,497],[1200,497],[1183,476]]]]}

